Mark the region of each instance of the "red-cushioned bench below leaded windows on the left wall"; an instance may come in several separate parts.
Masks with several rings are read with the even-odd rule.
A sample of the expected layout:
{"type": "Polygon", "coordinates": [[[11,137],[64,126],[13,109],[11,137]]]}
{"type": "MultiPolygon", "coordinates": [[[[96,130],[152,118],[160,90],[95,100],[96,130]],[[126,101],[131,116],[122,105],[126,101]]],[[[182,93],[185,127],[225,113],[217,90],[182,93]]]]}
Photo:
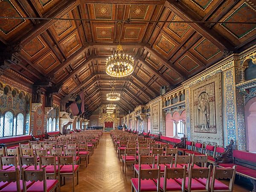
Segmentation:
{"type": "Polygon", "coordinates": [[[31,135],[23,135],[20,137],[9,137],[0,139],[0,143],[6,144],[8,148],[16,148],[19,146],[19,143],[29,143],[31,140],[31,135]]]}

